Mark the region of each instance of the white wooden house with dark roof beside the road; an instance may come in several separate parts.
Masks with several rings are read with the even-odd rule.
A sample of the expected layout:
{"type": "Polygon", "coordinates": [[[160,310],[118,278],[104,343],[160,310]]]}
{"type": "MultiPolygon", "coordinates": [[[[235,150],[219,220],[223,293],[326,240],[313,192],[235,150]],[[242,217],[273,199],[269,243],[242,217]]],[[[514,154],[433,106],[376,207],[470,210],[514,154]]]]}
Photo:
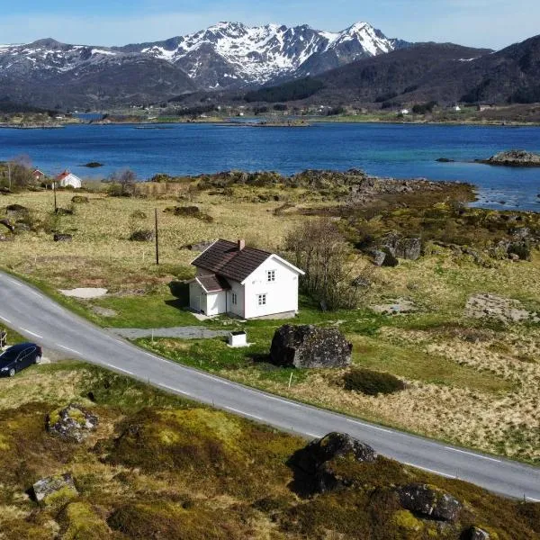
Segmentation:
{"type": "Polygon", "coordinates": [[[244,240],[217,240],[192,264],[197,269],[189,284],[193,311],[242,319],[282,319],[298,312],[304,273],[274,253],[247,247],[244,240]]]}

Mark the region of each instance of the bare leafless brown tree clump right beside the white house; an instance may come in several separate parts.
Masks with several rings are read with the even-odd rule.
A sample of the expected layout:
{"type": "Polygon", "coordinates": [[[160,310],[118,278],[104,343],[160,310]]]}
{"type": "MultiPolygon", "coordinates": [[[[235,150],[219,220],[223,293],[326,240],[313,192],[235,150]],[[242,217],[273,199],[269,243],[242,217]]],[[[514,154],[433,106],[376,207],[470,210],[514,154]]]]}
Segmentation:
{"type": "Polygon", "coordinates": [[[306,273],[302,289],[329,310],[356,307],[352,249],[329,218],[303,223],[285,238],[287,256],[306,273]]]}

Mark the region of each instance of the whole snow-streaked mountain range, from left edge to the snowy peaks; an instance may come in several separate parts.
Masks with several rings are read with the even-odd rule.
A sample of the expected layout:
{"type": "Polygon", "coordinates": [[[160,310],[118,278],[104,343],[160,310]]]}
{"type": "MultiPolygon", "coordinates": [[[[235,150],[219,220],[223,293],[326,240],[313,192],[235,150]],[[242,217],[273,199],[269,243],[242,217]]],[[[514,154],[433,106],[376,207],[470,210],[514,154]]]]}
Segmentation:
{"type": "Polygon", "coordinates": [[[0,45],[0,98],[49,107],[165,101],[194,90],[313,76],[406,46],[367,23],[339,32],[218,23],[190,35],[125,47],[38,40],[0,45]]]}

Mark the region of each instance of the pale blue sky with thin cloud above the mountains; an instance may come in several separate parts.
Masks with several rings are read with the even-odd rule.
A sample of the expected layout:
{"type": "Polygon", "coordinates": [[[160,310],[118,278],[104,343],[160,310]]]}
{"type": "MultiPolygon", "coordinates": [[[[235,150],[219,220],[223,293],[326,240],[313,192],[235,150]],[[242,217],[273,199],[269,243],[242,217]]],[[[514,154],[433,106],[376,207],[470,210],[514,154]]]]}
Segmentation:
{"type": "Polygon", "coordinates": [[[124,45],[165,40],[219,21],[310,24],[328,31],[365,21],[390,38],[491,49],[540,33],[538,0],[0,0],[0,6],[0,43],[50,37],[124,45]]]}

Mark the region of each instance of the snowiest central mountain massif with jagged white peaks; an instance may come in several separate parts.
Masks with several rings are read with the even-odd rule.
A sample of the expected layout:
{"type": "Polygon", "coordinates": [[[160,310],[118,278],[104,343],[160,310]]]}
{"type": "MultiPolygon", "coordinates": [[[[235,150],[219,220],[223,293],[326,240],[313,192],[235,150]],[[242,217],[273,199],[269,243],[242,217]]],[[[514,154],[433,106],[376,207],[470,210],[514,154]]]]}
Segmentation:
{"type": "Polygon", "coordinates": [[[368,23],[356,23],[339,32],[317,31],[307,25],[289,28],[218,23],[184,37],[120,50],[172,62],[210,89],[264,85],[287,76],[315,75],[393,49],[394,40],[368,23]]]}

